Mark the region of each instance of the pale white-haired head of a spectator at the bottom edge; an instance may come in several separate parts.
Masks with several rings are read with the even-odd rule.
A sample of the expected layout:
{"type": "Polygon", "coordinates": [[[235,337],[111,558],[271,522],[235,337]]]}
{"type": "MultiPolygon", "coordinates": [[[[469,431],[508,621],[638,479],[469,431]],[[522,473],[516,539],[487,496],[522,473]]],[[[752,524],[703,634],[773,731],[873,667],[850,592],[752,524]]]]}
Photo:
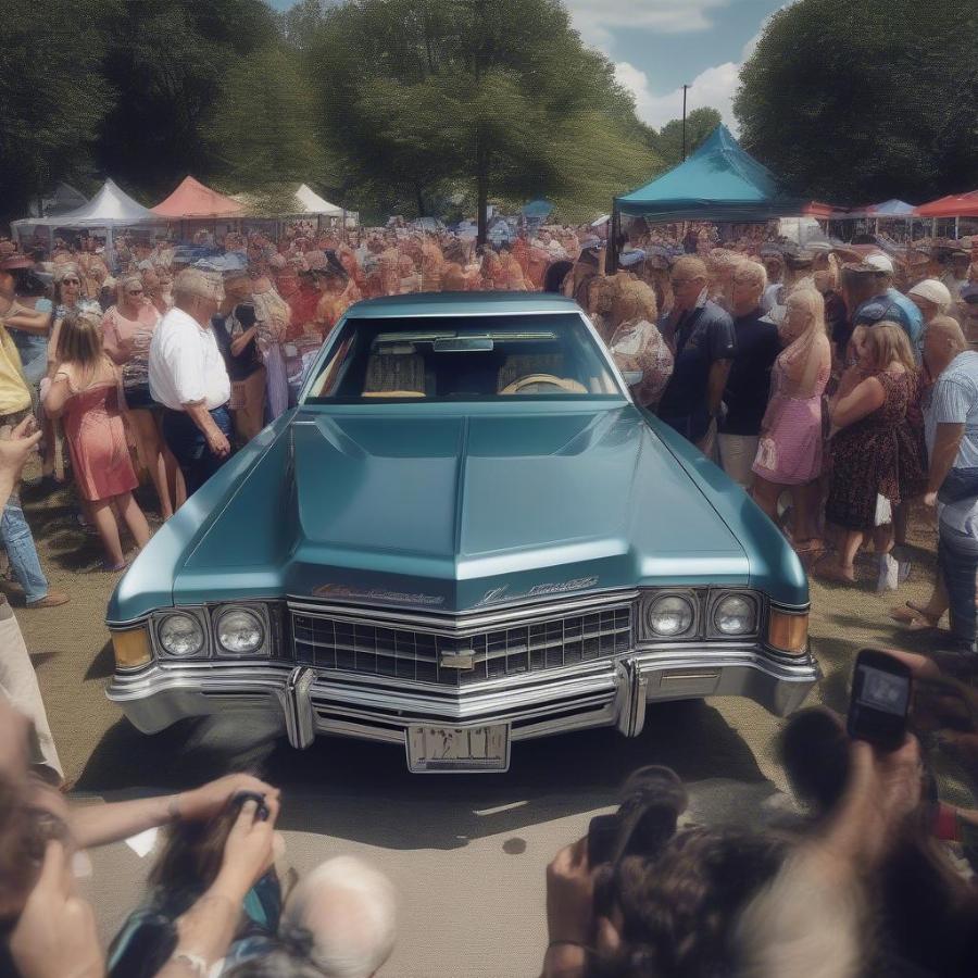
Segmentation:
{"type": "Polygon", "coordinates": [[[309,931],[310,958],[327,978],[369,978],[393,951],[393,885],[355,856],[328,860],[300,880],[281,923],[309,931]]]}

